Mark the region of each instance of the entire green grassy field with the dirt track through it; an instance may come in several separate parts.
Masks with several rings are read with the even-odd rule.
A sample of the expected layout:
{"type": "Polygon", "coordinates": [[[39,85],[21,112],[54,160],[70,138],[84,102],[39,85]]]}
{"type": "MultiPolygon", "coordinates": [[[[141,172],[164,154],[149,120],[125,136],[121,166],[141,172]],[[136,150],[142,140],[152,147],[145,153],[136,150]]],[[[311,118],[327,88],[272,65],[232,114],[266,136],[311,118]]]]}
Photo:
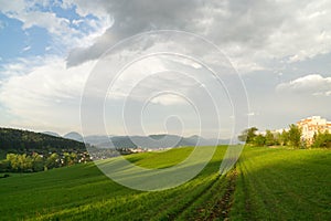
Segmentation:
{"type": "MultiPolygon", "coordinates": [[[[331,220],[331,151],[245,147],[217,171],[226,147],[191,181],[164,191],[125,188],[94,164],[0,179],[0,220],[331,220]]],[[[167,168],[192,148],[128,156],[167,168]]]]}

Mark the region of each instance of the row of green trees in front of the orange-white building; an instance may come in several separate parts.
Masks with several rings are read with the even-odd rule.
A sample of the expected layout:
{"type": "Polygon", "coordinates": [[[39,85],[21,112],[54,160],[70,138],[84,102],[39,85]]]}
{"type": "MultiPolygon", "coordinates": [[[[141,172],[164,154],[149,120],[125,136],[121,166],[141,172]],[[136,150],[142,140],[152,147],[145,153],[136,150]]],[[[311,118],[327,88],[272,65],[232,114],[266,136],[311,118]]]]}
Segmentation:
{"type": "Polygon", "coordinates": [[[297,125],[289,125],[288,130],[281,133],[273,133],[267,129],[265,134],[258,133],[256,127],[245,129],[239,136],[238,140],[246,141],[248,145],[254,146],[291,146],[293,148],[331,148],[331,134],[325,130],[324,133],[316,133],[312,141],[307,143],[302,139],[302,130],[297,125]]]}

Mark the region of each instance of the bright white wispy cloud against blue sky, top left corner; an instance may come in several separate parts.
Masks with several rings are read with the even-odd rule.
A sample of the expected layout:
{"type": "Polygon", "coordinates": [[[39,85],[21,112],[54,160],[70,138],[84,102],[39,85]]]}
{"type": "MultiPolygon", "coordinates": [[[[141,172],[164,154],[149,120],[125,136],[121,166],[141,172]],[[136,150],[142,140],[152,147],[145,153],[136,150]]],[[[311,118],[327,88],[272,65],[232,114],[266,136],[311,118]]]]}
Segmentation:
{"type": "MultiPolygon", "coordinates": [[[[8,18],[21,21],[22,29],[26,30],[32,27],[46,29],[53,39],[55,46],[89,46],[94,43],[96,36],[102,35],[106,29],[111,25],[109,15],[84,13],[81,18],[81,23],[88,27],[88,30],[82,31],[77,27],[75,20],[71,21],[67,18],[58,17],[55,12],[43,11],[42,8],[51,8],[56,2],[52,1],[6,1],[0,0],[0,12],[8,18]],[[93,14],[94,18],[86,15],[93,14]],[[73,25],[74,24],[74,25],[73,25]],[[76,25],[76,27],[75,27],[76,25]]],[[[71,4],[62,4],[63,9],[72,7],[71,4]]]]}

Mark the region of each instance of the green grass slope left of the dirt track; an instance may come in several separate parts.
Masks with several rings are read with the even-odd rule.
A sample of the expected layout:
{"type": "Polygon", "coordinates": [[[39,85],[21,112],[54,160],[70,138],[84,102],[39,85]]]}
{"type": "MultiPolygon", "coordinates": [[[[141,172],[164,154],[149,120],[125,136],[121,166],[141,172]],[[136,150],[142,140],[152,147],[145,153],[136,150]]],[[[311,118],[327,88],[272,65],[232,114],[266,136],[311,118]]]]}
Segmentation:
{"type": "MultiPolygon", "coordinates": [[[[137,165],[169,167],[192,148],[129,156],[137,165]],[[148,156],[147,156],[148,155],[148,156]],[[140,158],[141,157],[141,158],[140,158]],[[147,158],[150,160],[147,160],[147,158]]],[[[3,220],[162,220],[185,214],[218,179],[225,147],[193,180],[161,192],[125,188],[105,177],[93,164],[76,165],[33,175],[0,179],[0,214],[3,220]]],[[[221,181],[220,181],[221,180],[221,181]]],[[[201,202],[203,203],[203,202],[201,202]]]]}

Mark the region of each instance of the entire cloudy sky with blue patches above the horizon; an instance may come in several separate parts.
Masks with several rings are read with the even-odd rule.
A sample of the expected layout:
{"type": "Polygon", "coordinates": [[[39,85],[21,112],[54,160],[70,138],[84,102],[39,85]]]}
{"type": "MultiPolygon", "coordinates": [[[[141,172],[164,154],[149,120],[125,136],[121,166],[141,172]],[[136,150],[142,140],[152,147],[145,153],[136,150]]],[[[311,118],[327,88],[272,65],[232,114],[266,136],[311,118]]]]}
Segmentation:
{"type": "Polygon", "coordinates": [[[0,126],[227,138],[331,120],[328,0],[0,0],[0,126]]]}

